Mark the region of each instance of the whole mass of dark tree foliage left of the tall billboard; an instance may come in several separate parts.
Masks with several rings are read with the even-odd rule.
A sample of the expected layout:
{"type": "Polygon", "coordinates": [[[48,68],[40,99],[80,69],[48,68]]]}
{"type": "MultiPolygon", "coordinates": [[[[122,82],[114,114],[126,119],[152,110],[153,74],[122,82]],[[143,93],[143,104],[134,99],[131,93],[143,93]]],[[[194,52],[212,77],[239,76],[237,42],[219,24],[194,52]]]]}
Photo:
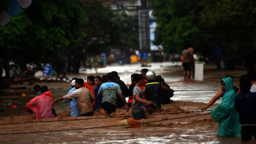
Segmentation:
{"type": "Polygon", "coordinates": [[[127,22],[131,17],[114,13],[102,1],[36,0],[0,27],[0,59],[7,71],[10,61],[21,71],[26,64],[51,63],[58,72],[68,62],[68,71],[78,73],[86,55],[134,44],[138,38],[129,35],[134,29],[127,22]]]}

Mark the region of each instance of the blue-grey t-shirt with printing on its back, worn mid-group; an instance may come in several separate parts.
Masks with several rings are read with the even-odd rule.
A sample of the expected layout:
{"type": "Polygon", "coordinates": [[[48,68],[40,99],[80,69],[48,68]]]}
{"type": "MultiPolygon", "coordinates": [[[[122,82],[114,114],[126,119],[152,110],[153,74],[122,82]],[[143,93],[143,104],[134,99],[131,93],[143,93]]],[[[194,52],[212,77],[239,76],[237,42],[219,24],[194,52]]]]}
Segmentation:
{"type": "Polygon", "coordinates": [[[102,103],[107,101],[116,106],[117,95],[122,93],[122,91],[118,84],[107,82],[100,86],[98,93],[103,95],[102,103]]]}

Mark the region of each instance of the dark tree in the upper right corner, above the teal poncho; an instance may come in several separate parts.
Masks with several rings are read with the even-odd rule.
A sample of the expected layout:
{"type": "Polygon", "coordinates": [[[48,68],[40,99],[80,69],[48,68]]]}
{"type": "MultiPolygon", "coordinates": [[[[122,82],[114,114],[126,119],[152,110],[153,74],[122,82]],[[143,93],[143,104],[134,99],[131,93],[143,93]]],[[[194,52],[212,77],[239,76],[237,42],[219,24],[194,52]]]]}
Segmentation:
{"type": "Polygon", "coordinates": [[[256,1],[253,0],[202,0],[204,8],[200,21],[213,34],[214,43],[219,44],[230,69],[244,62],[248,71],[255,66],[256,1]]]}

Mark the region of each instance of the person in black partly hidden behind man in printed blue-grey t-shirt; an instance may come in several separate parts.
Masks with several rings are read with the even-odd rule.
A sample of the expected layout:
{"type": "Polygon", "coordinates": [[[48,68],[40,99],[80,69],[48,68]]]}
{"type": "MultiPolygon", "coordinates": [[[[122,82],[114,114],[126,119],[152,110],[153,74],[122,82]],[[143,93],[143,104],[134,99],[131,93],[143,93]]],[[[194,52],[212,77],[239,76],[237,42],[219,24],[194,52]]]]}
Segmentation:
{"type": "MultiPolygon", "coordinates": [[[[118,84],[120,86],[120,89],[122,91],[122,94],[124,95],[125,98],[129,97],[129,89],[124,83],[124,81],[120,80],[120,77],[118,76],[118,73],[116,71],[111,72],[112,75],[114,76],[114,83],[118,84]]],[[[120,97],[117,96],[117,108],[122,108],[124,107],[124,102],[121,100],[120,97]]]]}

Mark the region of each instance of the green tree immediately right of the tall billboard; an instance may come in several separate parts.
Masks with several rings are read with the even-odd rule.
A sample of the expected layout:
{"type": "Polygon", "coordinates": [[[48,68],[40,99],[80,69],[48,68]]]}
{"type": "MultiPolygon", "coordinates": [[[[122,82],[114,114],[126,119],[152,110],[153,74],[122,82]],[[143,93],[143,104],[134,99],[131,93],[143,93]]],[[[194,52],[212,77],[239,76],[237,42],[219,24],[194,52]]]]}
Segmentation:
{"type": "Polygon", "coordinates": [[[205,37],[200,30],[199,0],[155,0],[153,15],[156,16],[156,45],[163,45],[167,52],[181,52],[193,46],[199,49],[205,37]]]}

